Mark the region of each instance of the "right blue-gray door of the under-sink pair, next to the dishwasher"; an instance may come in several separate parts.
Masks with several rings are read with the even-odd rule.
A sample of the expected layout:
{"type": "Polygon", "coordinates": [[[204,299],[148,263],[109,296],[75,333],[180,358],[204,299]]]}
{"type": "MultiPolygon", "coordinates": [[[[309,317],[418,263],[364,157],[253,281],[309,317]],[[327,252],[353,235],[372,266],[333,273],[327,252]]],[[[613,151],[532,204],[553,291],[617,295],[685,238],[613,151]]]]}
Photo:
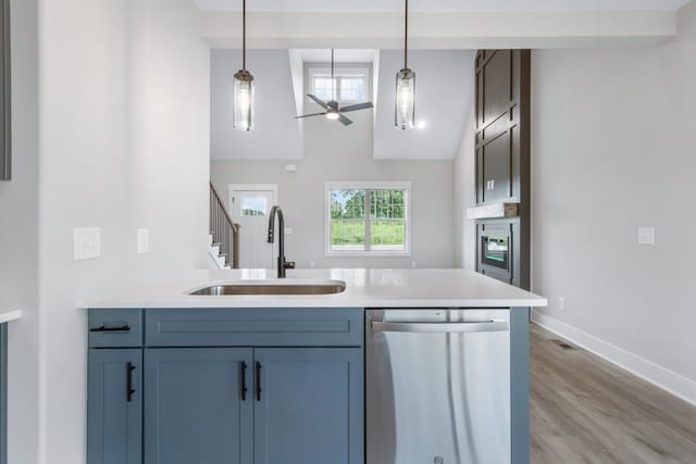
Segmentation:
{"type": "Polygon", "coordinates": [[[254,464],[363,463],[361,349],[256,349],[254,375],[254,464]]]}

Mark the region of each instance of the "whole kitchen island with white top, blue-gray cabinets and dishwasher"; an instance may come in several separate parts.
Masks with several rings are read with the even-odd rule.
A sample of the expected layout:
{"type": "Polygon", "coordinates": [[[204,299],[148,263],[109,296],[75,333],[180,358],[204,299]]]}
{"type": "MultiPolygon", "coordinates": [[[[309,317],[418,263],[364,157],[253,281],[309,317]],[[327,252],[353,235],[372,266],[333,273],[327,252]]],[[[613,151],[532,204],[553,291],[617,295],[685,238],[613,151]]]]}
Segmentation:
{"type": "Polygon", "coordinates": [[[546,299],[464,269],[274,273],[191,272],[85,302],[89,464],[529,462],[527,321],[546,299]],[[345,290],[188,294],[229,283],[345,290]],[[408,401],[448,403],[406,414],[400,396],[419,393],[401,385],[445,359],[447,378],[433,371],[408,401]],[[405,447],[408,424],[439,427],[450,406],[450,438],[405,447]]]}

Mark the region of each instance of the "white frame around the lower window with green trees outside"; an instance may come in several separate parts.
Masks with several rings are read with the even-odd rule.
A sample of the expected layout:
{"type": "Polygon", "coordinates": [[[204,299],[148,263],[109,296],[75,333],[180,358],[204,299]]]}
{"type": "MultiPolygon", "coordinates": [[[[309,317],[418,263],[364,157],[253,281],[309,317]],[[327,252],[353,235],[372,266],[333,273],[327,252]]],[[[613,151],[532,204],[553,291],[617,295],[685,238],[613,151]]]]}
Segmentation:
{"type": "Polygon", "coordinates": [[[397,258],[411,255],[411,183],[410,181],[327,181],[324,183],[324,255],[336,256],[378,256],[397,258]],[[370,243],[370,195],[365,195],[365,249],[332,250],[331,243],[331,192],[332,190],[403,190],[403,250],[372,250],[370,243]]]}

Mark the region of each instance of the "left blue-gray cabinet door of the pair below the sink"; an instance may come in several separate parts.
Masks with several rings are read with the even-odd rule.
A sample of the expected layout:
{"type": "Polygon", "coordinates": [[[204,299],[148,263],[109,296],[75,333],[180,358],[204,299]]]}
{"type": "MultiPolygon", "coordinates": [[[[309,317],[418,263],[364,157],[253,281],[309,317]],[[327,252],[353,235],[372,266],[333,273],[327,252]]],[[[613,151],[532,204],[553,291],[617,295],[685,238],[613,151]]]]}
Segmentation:
{"type": "Polygon", "coordinates": [[[253,461],[251,356],[250,348],[146,349],[147,464],[253,461]]]}

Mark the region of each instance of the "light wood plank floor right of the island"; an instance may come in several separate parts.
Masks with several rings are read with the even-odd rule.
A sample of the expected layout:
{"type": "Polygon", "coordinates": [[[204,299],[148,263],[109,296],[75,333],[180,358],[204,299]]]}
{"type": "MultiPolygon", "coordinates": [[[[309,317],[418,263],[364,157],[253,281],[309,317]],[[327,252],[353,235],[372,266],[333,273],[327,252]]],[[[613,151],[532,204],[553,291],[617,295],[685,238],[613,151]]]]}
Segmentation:
{"type": "Polygon", "coordinates": [[[532,463],[696,464],[696,406],[562,343],[532,325],[532,463]]]}

